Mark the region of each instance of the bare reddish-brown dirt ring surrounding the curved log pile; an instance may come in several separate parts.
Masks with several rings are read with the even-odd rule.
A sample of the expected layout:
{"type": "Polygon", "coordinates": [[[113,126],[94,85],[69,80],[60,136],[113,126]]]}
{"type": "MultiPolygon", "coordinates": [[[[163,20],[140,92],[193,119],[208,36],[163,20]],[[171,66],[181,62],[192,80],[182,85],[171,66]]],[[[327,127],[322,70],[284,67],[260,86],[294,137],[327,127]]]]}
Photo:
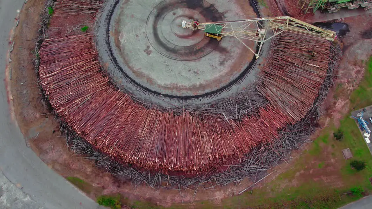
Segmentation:
{"type": "MultiPolygon", "coordinates": [[[[271,5],[271,4],[270,4],[271,5]]],[[[275,8],[275,5],[272,5],[275,8]]],[[[211,200],[219,203],[221,199],[234,196],[240,190],[247,187],[250,182],[246,181],[241,186],[235,187],[230,185],[223,188],[214,190],[199,191],[195,199],[193,199],[193,191],[182,190],[181,195],[178,190],[160,190],[156,191],[147,186],[138,186],[133,188],[131,183],[126,182],[108,173],[103,173],[102,170],[94,167],[94,164],[84,159],[84,157],[74,155],[73,152],[68,150],[65,145],[65,138],[61,137],[59,131],[59,124],[54,119],[53,115],[49,113],[47,108],[41,105],[41,97],[39,89],[36,85],[36,75],[34,73],[32,59],[32,50],[35,48],[34,38],[37,36],[37,29],[39,28],[38,13],[44,8],[42,0],[29,1],[26,5],[26,13],[20,15],[19,26],[16,29],[15,45],[13,52],[12,62],[12,94],[13,104],[16,112],[16,119],[22,133],[25,135],[26,144],[28,144],[38,156],[57,173],[64,177],[78,177],[92,185],[87,195],[95,199],[101,194],[117,194],[131,204],[137,200],[147,200],[153,202],[155,205],[170,206],[172,203],[190,203],[197,200],[211,200]]],[[[277,10],[276,8],[274,10],[277,10]]],[[[369,17],[370,18],[370,17],[369,17]]],[[[337,85],[347,85],[348,93],[350,93],[363,75],[363,63],[361,60],[366,60],[371,54],[371,39],[362,39],[362,33],[368,31],[370,26],[366,17],[357,16],[346,18],[344,22],[350,26],[350,32],[343,39],[343,47],[345,56],[341,60],[339,70],[340,78],[337,80],[337,85]]],[[[53,35],[69,35],[73,33],[80,33],[78,30],[80,25],[91,24],[87,19],[81,18],[76,22],[64,22],[59,20],[51,23],[53,35]],[[66,34],[57,32],[58,28],[65,27],[66,34]],[[77,27],[77,29],[75,29],[77,27]],[[68,31],[74,29],[73,32],[68,31]]],[[[62,30],[61,30],[62,31],[62,30]]],[[[334,88],[334,90],[336,89],[334,88]]],[[[326,115],[321,117],[320,125],[324,126],[330,120],[337,122],[340,116],[347,111],[349,103],[344,94],[338,96],[334,100],[334,94],[328,95],[327,101],[324,103],[324,110],[326,115]]],[[[319,132],[312,135],[317,137],[319,132]]],[[[306,147],[304,148],[306,149],[306,147]]],[[[328,152],[328,151],[327,151],[328,152]]],[[[332,163],[331,151],[328,152],[329,156],[327,164],[332,163]]],[[[293,166],[297,156],[301,151],[292,153],[294,160],[289,164],[280,164],[280,167],[274,168],[275,170],[282,171],[288,170],[293,166]]],[[[310,164],[317,164],[319,162],[308,162],[310,164]]],[[[314,180],[326,183],[330,186],[338,186],[338,177],[334,175],[334,171],[340,170],[337,165],[331,166],[326,173],[324,170],[306,170],[301,171],[292,182],[288,184],[296,185],[298,182],[306,180],[306,178],[313,178],[314,180]]],[[[278,174],[279,174],[278,173],[278,174]]],[[[277,174],[267,178],[265,181],[275,179],[277,174]]],[[[265,186],[267,183],[259,184],[258,186],[265,186]]]]}

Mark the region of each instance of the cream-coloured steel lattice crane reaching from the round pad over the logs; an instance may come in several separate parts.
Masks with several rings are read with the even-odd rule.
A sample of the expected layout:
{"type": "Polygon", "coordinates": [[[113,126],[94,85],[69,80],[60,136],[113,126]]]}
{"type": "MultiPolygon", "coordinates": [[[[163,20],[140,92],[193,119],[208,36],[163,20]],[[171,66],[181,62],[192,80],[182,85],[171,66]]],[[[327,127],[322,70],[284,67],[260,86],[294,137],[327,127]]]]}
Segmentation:
{"type": "Polygon", "coordinates": [[[198,20],[192,19],[183,21],[182,27],[190,28],[193,30],[205,30],[206,25],[215,24],[222,26],[222,30],[220,32],[222,37],[233,36],[237,38],[242,44],[244,44],[250,51],[252,51],[256,55],[256,58],[259,57],[264,42],[268,41],[276,35],[279,35],[284,31],[291,31],[300,35],[311,35],[330,41],[334,41],[334,39],[336,38],[336,32],[316,27],[290,16],[205,22],[198,23],[196,27],[194,27],[192,24],[192,22],[194,21],[198,20]],[[252,49],[251,47],[249,47],[243,42],[243,40],[256,42],[255,46],[259,46],[259,50],[256,52],[254,48],[252,49]]]}

